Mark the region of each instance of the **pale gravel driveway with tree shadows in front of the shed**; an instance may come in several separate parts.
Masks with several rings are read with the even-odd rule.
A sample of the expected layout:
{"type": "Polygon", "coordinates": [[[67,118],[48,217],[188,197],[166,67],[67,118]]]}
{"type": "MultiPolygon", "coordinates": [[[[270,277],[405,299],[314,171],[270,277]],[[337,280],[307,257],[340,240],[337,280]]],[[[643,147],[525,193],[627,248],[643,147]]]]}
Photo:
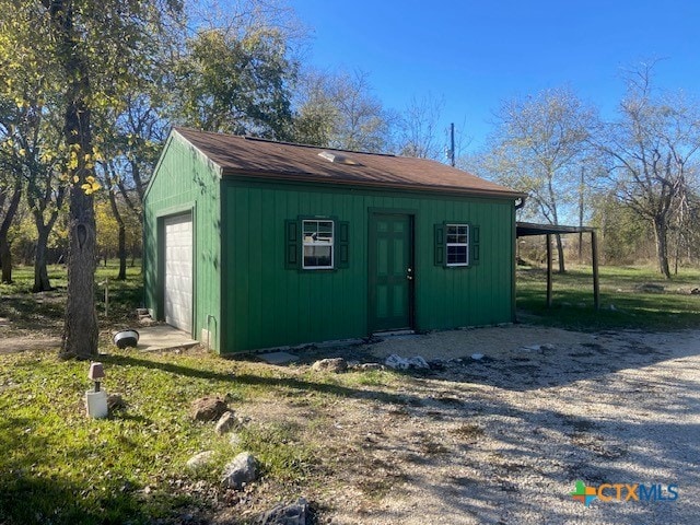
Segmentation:
{"type": "Polygon", "coordinates": [[[339,510],[330,523],[700,523],[700,331],[505,327],[361,351],[442,358],[443,368],[407,378],[404,406],[337,415],[351,429],[337,440],[349,440],[368,481],[326,494],[339,510]],[[584,506],[571,495],[578,480],[633,495],[617,501],[610,487],[611,501],[584,506]]]}

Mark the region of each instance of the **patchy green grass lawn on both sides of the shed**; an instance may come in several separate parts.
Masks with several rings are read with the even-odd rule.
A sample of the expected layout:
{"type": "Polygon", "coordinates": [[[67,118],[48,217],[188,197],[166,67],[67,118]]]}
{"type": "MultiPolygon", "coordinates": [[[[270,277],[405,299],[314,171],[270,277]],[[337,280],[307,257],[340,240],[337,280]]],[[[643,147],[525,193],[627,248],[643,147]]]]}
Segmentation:
{"type": "MultiPolygon", "coordinates": [[[[115,273],[114,266],[100,267],[97,280],[115,273]]],[[[50,275],[54,292],[28,293],[32,272],[24,268],[15,271],[15,284],[0,287],[0,317],[11,322],[0,327],[5,330],[0,337],[60,334],[63,269],[51,267],[50,275]]],[[[590,270],[555,275],[555,305],[548,311],[544,270],[520,270],[518,312],[527,322],[586,330],[700,326],[700,296],[689,293],[700,285],[698,270],[668,282],[648,269],[604,267],[600,283],[603,308],[595,312],[590,270]]],[[[223,497],[218,489],[223,464],[243,450],[261,462],[264,482],[229,505],[243,505],[255,491],[280,501],[330,490],[334,454],[326,450],[327,440],[314,433],[328,423],[324,407],[348,398],[405,402],[393,394],[405,377],[393,372],[314,375],[306,369],[273,369],[202,351],[118,350],[109,345],[108,332],[132,320],[140,306],[138,268],[130,269],[126,282],[112,282],[108,317],[103,294],[102,288],[96,291],[104,386],[127,404],[109,419],[85,417],[88,363],[60,361],[55,351],[0,354],[0,524],[180,523],[183,516],[206,515],[223,497]],[[243,412],[294,399],[305,417],[298,422],[253,419],[232,445],[212,424],[189,417],[194,399],[213,394],[228,396],[243,412]],[[186,460],[206,450],[215,453],[212,465],[188,471],[186,460]]],[[[240,523],[250,518],[242,514],[240,523]]]]}

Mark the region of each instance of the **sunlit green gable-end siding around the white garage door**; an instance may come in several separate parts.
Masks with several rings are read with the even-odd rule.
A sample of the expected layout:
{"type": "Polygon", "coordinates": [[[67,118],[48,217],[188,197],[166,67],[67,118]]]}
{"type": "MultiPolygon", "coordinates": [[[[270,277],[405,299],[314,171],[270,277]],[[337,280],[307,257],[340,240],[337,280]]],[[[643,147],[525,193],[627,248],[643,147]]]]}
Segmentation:
{"type": "Polygon", "coordinates": [[[197,149],[174,133],[165,144],[143,207],[145,306],[156,318],[163,318],[162,218],[191,211],[195,254],[192,337],[202,339],[201,330],[209,325],[209,342],[215,350],[220,348],[222,327],[222,205],[218,173],[219,170],[197,149]]]}

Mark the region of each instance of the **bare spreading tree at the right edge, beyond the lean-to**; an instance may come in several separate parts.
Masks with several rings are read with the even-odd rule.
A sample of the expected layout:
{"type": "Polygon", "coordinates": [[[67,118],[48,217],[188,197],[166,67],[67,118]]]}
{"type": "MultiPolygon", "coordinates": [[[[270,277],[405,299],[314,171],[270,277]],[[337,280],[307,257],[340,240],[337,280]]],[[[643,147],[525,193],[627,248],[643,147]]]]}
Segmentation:
{"type": "Polygon", "coordinates": [[[700,149],[700,109],[682,93],[652,88],[653,63],[628,75],[619,118],[602,126],[597,147],[610,162],[617,197],[653,229],[658,270],[670,279],[668,232],[700,149]]]}

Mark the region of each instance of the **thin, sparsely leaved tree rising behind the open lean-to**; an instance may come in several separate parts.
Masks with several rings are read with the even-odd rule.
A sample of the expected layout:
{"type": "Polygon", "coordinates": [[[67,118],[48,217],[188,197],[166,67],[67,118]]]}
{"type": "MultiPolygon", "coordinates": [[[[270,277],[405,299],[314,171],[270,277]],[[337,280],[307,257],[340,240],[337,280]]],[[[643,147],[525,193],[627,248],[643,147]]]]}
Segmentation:
{"type": "MultiPolygon", "coordinates": [[[[595,118],[593,109],[568,89],[506,101],[497,114],[497,130],[483,165],[506,186],[529,195],[528,202],[536,207],[529,207],[533,217],[560,224],[564,209],[579,195],[595,118]]],[[[563,272],[559,235],[557,248],[559,271],[563,272]]]]}

